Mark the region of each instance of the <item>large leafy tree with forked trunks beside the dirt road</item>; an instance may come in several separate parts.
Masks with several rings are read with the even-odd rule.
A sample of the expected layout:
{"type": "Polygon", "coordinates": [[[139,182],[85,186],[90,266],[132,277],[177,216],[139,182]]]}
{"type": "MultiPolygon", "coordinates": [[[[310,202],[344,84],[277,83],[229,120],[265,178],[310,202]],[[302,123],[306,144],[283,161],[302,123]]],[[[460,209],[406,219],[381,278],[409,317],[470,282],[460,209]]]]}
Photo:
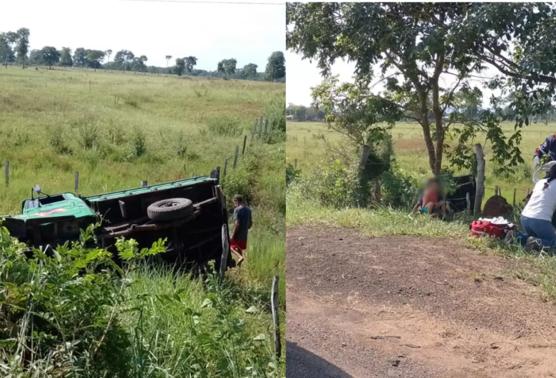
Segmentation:
{"type": "MultiPolygon", "coordinates": [[[[380,98],[383,106],[421,125],[434,174],[442,168],[447,133],[458,136],[459,144],[451,153],[453,164],[470,166],[473,151],[465,143],[485,131],[493,145],[495,165],[510,169],[522,162],[520,131],[509,138],[503,134],[503,113],[495,98],[492,109],[481,112],[478,119],[450,110],[457,108],[458,93],[475,92],[472,76],[480,76],[486,65],[510,78],[514,90],[522,91],[527,83],[531,88],[544,83],[543,90],[554,91],[555,16],[550,3],[288,3],[287,47],[316,59],[325,78],[337,59],[354,61],[359,90],[368,87],[378,71],[386,91],[366,96],[375,101],[380,98]],[[532,39],[537,39],[536,46],[532,39]],[[443,85],[446,79],[453,83],[443,85]]],[[[509,88],[500,77],[486,78],[483,83],[509,88]]],[[[314,94],[316,102],[326,101],[318,97],[326,96],[324,88],[314,94]]],[[[528,124],[531,108],[539,111],[544,106],[534,108],[526,97],[520,96],[519,106],[514,104],[520,113],[518,126],[528,124]]],[[[342,105],[340,97],[336,100],[340,103],[330,104],[327,111],[342,105]]],[[[379,119],[381,108],[372,110],[379,119]]]]}

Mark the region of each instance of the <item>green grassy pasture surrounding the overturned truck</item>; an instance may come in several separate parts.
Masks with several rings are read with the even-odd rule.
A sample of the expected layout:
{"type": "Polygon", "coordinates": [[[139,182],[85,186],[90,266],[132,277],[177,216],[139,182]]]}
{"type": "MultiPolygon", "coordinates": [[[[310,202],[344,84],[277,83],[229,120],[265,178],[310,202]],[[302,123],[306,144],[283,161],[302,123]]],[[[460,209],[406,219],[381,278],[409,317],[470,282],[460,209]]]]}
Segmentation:
{"type": "MultiPolygon", "coordinates": [[[[0,160],[9,160],[10,180],[0,188],[0,213],[19,214],[21,201],[36,184],[45,193],[73,192],[76,171],[83,195],[135,188],[141,180],[155,184],[208,175],[233,157],[256,118],[283,114],[284,101],[285,86],[280,83],[1,68],[0,160]]],[[[252,337],[267,335],[263,347],[268,353],[272,321],[267,302],[273,275],[281,277],[285,312],[284,156],[284,138],[272,144],[249,142],[238,168],[228,166],[223,183],[228,198],[242,191],[249,199],[254,220],[246,262],[230,272],[241,299],[231,303],[232,313],[244,318],[252,337]],[[251,302],[262,312],[247,316],[251,302]]],[[[163,272],[142,274],[143,286],[134,290],[160,294],[180,286],[190,292],[184,305],[201,307],[202,286],[189,278],[180,277],[173,285],[163,272]]],[[[152,327],[145,339],[168,339],[160,359],[165,375],[148,377],[185,377],[185,371],[177,369],[183,362],[180,347],[195,343],[188,339],[180,306],[153,304],[151,310],[152,327]]],[[[121,321],[132,327],[125,318],[121,321]]],[[[284,332],[282,327],[282,338],[284,332]]],[[[247,363],[249,355],[243,358],[247,363]]],[[[276,374],[285,374],[284,357],[276,374]]]]}

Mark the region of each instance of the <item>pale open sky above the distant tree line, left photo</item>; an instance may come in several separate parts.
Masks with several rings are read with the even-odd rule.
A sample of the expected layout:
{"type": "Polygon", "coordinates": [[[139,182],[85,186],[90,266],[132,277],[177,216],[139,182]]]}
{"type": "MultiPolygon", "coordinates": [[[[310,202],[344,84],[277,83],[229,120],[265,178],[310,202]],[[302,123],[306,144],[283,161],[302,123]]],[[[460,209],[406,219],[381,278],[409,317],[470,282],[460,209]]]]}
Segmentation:
{"type": "MultiPolygon", "coordinates": [[[[225,58],[264,71],[274,51],[285,51],[284,4],[210,4],[138,0],[2,1],[0,31],[25,27],[30,49],[43,46],[125,49],[166,66],[166,55],[196,56],[195,68],[215,71],[225,58]]],[[[186,1],[186,0],[184,0],[186,1]]],[[[277,0],[229,0],[280,3],[277,0]]]]}

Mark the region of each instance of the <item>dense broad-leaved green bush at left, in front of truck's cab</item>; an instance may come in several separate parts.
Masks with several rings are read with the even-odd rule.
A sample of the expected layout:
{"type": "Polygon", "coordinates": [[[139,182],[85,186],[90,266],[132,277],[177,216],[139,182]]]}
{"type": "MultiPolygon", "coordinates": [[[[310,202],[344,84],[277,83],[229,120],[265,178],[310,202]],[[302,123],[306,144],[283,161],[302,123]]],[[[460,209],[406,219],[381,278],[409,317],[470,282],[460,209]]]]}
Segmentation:
{"type": "Polygon", "coordinates": [[[120,269],[109,252],[86,247],[92,239],[91,226],[53,256],[33,250],[28,260],[25,245],[0,229],[3,377],[128,376],[130,337],[117,315],[129,308],[121,294],[133,285],[136,262],[163,252],[163,241],[139,251],[134,240],[118,240],[120,269]]]}

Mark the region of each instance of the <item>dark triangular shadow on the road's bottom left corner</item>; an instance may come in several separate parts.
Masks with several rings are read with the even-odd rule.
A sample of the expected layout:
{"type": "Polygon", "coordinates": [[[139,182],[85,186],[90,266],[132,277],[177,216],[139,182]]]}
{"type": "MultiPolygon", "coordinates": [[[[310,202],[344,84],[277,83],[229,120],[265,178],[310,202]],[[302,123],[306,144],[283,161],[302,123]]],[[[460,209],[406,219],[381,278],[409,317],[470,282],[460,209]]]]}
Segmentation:
{"type": "Polygon", "coordinates": [[[299,347],[286,342],[287,378],[353,378],[334,364],[299,347]]]}

